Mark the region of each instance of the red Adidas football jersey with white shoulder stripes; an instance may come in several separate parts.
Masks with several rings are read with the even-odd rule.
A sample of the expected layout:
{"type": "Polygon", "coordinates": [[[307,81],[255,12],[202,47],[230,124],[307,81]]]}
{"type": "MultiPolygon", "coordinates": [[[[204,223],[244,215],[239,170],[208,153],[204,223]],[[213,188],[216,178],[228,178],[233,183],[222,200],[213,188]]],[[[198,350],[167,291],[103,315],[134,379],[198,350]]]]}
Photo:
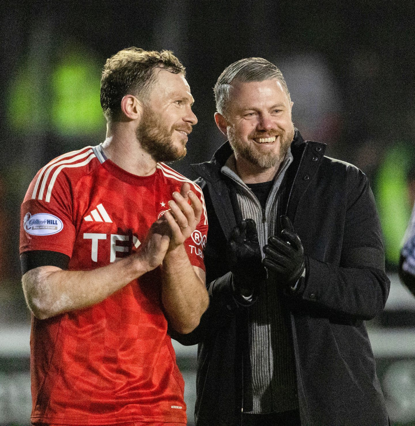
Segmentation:
{"type": "MultiPolygon", "coordinates": [[[[184,245],[192,265],[204,270],[200,188],[163,163],[151,176],[128,173],[100,145],[61,155],[37,173],[21,207],[20,253],[64,253],[73,271],[115,262],[139,248],[183,182],[203,204],[184,245]]],[[[186,423],[159,268],[90,308],[32,316],[30,345],[33,423],[186,423]]]]}

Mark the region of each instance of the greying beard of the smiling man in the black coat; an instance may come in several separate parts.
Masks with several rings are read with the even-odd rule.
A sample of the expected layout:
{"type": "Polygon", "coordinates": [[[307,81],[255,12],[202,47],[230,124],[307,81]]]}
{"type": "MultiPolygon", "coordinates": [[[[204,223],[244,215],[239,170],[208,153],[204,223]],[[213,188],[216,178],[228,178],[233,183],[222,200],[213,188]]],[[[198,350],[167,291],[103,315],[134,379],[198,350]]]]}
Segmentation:
{"type": "MultiPolygon", "coordinates": [[[[245,158],[251,164],[260,167],[261,169],[270,169],[274,167],[276,164],[280,164],[283,161],[289,146],[294,138],[294,124],[291,124],[291,127],[287,132],[280,130],[270,130],[267,132],[268,136],[280,136],[280,150],[278,153],[269,152],[263,153],[260,150],[257,150],[255,145],[252,143],[246,144],[245,142],[241,143],[238,136],[235,134],[232,127],[228,127],[228,137],[229,143],[231,144],[232,149],[234,150],[236,156],[240,156],[245,158]]],[[[263,135],[258,135],[254,133],[249,135],[249,139],[252,138],[262,138],[263,135]]],[[[255,144],[256,142],[254,142],[255,144]]],[[[275,142],[273,142],[275,143],[275,142]]]]}

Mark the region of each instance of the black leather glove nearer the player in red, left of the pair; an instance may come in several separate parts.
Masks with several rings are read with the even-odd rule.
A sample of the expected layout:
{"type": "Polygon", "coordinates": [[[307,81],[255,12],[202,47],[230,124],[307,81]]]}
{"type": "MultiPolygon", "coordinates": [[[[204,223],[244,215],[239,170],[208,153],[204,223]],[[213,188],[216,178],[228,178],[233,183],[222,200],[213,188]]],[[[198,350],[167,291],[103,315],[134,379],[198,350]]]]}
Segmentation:
{"type": "Polygon", "coordinates": [[[253,219],[243,219],[233,228],[227,251],[234,291],[243,296],[256,294],[266,278],[266,271],[261,263],[257,226],[253,219]]]}

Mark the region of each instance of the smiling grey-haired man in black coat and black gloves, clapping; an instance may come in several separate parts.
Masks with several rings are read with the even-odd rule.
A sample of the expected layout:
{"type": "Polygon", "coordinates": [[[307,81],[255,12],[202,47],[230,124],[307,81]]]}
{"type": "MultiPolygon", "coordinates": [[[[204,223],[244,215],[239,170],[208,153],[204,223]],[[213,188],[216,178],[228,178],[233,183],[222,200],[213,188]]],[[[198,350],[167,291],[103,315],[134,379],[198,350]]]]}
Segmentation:
{"type": "Polygon", "coordinates": [[[272,63],[233,63],[215,96],[229,141],[197,165],[210,304],[172,333],[199,344],[196,425],[387,425],[364,320],[390,283],[366,176],[303,140],[272,63]]]}

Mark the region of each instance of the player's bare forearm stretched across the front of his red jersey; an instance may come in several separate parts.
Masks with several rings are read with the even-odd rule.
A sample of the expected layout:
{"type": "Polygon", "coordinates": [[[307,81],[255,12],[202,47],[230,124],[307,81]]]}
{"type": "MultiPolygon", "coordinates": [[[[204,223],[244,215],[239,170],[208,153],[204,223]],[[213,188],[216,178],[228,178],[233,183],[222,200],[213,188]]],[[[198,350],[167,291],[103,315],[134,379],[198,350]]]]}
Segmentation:
{"type": "Polygon", "coordinates": [[[23,291],[34,316],[43,320],[102,302],[147,271],[132,256],[92,271],[41,266],[23,275],[23,291]]]}

